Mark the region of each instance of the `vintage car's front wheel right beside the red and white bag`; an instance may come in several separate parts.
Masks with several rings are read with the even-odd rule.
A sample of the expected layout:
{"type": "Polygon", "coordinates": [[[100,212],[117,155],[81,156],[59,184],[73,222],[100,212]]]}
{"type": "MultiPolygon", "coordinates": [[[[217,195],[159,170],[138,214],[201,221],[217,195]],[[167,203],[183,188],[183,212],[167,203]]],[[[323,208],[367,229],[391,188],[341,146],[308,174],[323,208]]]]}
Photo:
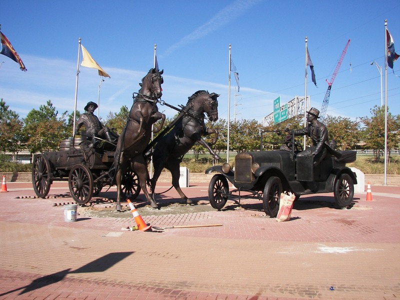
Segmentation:
{"type": "Polygon", "coordinates": [[[266,180],[262,206],[270,217],[275,217],[279,210],[280,193],[282,192],[282,182],[279,177],[271,176],[266,180]]]}

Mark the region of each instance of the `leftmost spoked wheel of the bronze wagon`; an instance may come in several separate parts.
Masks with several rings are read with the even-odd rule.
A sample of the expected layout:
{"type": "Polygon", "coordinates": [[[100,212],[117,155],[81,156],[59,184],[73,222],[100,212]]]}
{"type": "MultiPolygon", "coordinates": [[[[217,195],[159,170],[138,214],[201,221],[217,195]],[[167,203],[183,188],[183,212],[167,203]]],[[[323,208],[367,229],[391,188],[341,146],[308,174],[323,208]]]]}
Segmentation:
{"type": "Polygon", "coordinates": [[[48,159],[42,154],[35,155],[32,164],[32,184],[33,190],[38,197],[44,198],[48,194],[51,179],[48,159]]]}

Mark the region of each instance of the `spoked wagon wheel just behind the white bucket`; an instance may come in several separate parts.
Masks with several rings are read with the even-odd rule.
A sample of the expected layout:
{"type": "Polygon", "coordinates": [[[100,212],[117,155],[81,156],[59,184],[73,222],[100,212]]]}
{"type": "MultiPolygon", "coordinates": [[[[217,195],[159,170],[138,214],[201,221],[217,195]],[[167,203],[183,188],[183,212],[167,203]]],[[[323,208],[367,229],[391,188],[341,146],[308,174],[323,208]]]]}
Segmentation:
{"type": "Polygon", "coordinates": [[[90,201],[93,195],[93,175],[84,164],[76,164],[71,168],[68,177],[68,186],[72,198],[78,204],[90,201]]]}

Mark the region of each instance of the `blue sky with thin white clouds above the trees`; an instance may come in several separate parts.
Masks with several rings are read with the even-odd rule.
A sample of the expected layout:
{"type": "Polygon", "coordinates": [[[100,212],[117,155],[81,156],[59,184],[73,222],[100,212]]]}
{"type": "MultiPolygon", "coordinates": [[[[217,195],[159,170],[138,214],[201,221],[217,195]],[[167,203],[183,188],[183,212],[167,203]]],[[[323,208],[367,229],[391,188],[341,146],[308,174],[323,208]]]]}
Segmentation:
{"type": "MultiPolygon", "coordinates": [[[[185,104],[199,89],[219,93],[219,117],[227,119],[228,46],[239,72],[236,118],[261,121],[295,95],[304,95],[305,36],[318,87],[310,81],[311,106],[320,108],[340,54],[350,46],[333,82],[326,114],[370,116],[384,90],[384,20],[400,52],[398,0],[2,0],[1,32],[27,72],[0,55],[0,97],[21,117],[51,100],[73,111],[78,38],[111,76],[100,88],[100,117],[132,103],[132,93],[157,60],[164,69],[162,100],[185,104]],[[351,69],[350,69],[351,63],[351,69]]],[[[80,61],[79,61],[80,63],[80,61]]],[[[400,114],[400,61],[387,69],[387,102],[400,114]],[[396,76],[397,75],[397,76],[396,76]]],[[[97,101],[101,77],[80,66],[77,109],[97,101]]],[[[234,77],[230,119],[234,118],[234,77]]],[[[383,93],[384,99],[384,93],[383,93]]],[[[159,105],[168,117],[174,110],[159,105]]]]}

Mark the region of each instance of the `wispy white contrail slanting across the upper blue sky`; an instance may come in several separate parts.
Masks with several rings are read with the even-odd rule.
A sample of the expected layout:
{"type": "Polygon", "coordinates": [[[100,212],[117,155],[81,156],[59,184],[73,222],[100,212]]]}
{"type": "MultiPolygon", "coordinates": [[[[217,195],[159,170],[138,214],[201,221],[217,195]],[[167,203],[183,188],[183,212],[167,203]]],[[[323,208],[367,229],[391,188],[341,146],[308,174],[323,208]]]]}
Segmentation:
{"type": "Polygon", "coordinates": [[[217,30],[223,25],[228,24],[233,21],[236,17],[243,14],[247,9],[252,7],[254,4],[260,2],[262,0],[236,0],[232,4],[226,6],[217,14],[215,14],[211,19],[209,19],[205,24],[197,27],[193,32],[184,36],[177,43],[171,45],[169,48],[165,50],[162,56],[167,56],[172,53],[177,48],[193,41],[199,39],[201,37],[206,36],[207,34],[217,30]]]}

